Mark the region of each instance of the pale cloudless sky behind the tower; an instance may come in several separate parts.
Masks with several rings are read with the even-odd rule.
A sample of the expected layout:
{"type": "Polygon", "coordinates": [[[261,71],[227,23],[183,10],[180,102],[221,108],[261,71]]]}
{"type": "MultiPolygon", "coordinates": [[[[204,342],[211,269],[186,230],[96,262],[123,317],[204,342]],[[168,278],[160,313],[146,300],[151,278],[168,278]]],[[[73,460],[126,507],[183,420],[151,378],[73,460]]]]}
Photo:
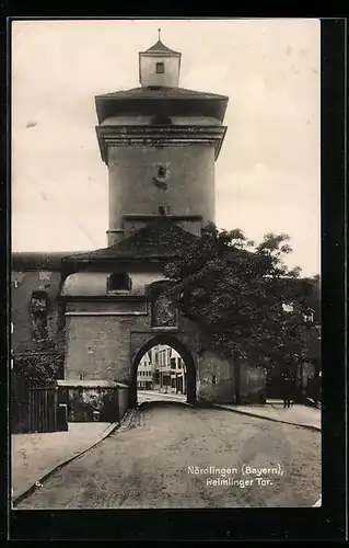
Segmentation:
{"type": "Polygon", "coordinates": [[[159,27],[179,87],[229,96],[217,225],[288,233],[288,265],[318,273],[321,23],[305,19],[13,22],[12,250],[106,247],[94,96],[140,85],[159,27]]]}

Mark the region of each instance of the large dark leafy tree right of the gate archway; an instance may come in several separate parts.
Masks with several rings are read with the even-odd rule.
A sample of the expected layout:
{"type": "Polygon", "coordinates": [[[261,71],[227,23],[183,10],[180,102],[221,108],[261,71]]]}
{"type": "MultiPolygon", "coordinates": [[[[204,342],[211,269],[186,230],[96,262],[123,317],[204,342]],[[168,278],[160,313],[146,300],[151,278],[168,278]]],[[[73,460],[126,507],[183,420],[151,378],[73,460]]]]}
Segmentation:
{"type": "Polygon", "coordinates": [[[287,267],[289,239],[267,233],[255,244],[240,229],[220,231],[210,224],[164,270],[181,312],[235,365],[253,356],[272,366],[301,353],[306,331],[300,310],[312,282],[300,279],[299,267],[287,267]],[[293,313],[284,312],[284,302],[293,304],[293,313]]]}

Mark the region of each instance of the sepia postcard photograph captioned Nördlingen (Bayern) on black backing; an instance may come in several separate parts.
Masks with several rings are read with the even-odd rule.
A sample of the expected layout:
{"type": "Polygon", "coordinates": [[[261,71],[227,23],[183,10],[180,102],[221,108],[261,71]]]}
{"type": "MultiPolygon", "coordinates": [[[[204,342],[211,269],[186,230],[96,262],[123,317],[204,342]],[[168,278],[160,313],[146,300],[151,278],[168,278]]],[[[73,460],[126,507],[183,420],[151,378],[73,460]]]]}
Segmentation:
{"type": "Polygon", "coordinates": [[[11,79],[12,509],[322,506],[321,21],[13,21],[11,79]]]}

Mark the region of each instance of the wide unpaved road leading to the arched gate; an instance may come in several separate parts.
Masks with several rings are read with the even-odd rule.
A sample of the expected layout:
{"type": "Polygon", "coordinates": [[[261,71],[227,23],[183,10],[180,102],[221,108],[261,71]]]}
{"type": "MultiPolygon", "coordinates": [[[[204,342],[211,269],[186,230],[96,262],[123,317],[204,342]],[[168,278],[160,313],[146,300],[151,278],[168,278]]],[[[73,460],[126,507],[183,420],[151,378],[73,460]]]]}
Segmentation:
{"type": "Polygon", "coordinates": [[[294,507],[318,499],[317,432],[174,402],[141,406],[131,426],[57,471],[18,507],[294,507]]]}

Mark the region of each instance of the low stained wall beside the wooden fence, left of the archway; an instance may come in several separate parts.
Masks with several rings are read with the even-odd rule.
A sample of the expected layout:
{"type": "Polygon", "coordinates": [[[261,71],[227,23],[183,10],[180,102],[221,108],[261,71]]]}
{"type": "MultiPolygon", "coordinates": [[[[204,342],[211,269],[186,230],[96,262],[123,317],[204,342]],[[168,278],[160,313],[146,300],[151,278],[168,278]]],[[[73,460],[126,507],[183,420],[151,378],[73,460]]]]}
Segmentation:
{"type": "Polygon", "coordinates": [[[128,409],[128,386],[110,380],[59,380],[59,403],[68,422],[119,422],[128,409]]]}

